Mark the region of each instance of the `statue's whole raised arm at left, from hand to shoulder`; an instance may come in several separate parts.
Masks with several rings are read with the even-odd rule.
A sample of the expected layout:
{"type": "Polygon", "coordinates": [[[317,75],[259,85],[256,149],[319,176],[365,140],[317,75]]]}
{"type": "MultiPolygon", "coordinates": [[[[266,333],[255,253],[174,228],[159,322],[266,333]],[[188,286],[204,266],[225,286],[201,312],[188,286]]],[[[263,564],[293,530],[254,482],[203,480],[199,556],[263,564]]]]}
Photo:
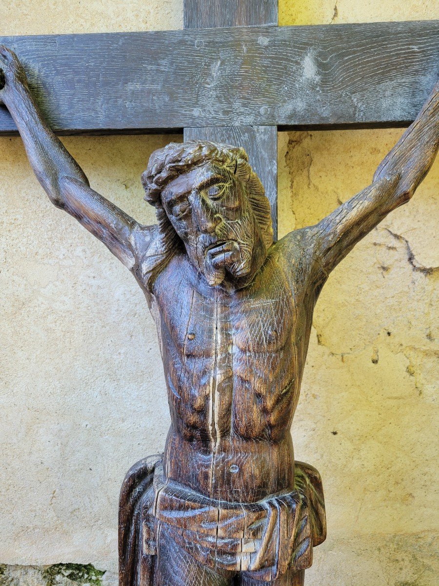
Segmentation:
{"type": "Polygon", "coordinates": [[[39,112],[18,57],[4,46],[0,55],[0,103],[18,127],[37,179],[54,205],[76,217],[132,269],[147,247],[149,229],[90,188],[83,170],[39,112]]]}

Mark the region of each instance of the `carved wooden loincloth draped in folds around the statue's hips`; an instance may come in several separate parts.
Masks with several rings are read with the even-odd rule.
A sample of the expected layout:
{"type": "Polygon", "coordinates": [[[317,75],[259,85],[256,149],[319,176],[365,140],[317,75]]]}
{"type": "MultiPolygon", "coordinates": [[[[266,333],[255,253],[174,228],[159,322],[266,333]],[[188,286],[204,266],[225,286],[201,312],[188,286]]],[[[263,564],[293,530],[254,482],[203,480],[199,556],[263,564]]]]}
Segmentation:
{"type": "MultiPolygon", "coordinates": [[[[296,462],[294,489],[256,503],[210,499],[174,481],[166,482],[162,459],[153,468],[148,490],[145,481],[142,490],[148,498],[141,498],[142,505],[137,507],[141,533],[137,549],[142,559],[156,554],[157,531],[162,525],[198,563],[219,573],[251,572],[255,580],[272,581],[289,567],[309,568],[313,547],[325,539],[323,490],[312,466],[296,462]]],[[[120,540],[119,534],[119,556],[120,540]]],[[[143,563],[148,565],[145,559],[143,563]]],[[[121,580],[121,586],[140,584],[144,586],[143,580],[134,575],[132,580],[121,580]]]]}

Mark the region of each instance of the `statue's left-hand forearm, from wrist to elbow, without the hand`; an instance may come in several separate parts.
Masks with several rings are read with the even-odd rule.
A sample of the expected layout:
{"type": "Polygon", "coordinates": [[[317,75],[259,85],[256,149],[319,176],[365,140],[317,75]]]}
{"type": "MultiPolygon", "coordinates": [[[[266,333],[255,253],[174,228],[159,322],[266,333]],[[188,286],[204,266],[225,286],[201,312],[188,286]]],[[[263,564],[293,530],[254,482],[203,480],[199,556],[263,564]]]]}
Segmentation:
{"type": "Polygon", "coordinates": [[[52,202],[64,207],[61,179],[71,177],[88,185],[83,170],[44,121],[24,84],[13,87],[4,102],[17,125],[37,179],[52,202]]]}

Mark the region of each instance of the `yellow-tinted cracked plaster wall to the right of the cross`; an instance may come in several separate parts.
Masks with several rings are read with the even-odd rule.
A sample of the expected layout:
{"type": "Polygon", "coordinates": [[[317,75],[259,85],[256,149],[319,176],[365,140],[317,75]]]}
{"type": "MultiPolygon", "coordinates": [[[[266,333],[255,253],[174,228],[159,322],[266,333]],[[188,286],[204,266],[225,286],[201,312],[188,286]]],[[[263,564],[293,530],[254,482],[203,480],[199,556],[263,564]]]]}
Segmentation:
{"type": "MultiPolygon", "coordinates": [[[[439,2],[280,0],[279,11],[281,25],[434,19],[439,2]]],[[[280,134],[280,235],[368,185],[401,134],[280,134]]],[[[306,584],[439,584],[438,204],[436,161],[317,303],[293,440],[323,475],[328,539],[306,584]]]]}

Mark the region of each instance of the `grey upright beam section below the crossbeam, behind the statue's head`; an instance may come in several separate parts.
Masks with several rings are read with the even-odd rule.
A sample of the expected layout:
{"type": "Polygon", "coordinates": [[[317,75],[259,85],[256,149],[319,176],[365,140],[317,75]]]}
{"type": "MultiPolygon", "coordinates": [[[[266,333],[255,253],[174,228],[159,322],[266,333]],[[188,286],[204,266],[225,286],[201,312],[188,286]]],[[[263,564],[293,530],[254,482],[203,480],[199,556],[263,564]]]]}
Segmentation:
{"type": "Polygon", "coordinates": [[[277,128],[275,126],[229,126],[185,128],[184,140],[210,140],[242,146],[265,189],[272,209],[273,237],[277,235],[277,128]]]}

